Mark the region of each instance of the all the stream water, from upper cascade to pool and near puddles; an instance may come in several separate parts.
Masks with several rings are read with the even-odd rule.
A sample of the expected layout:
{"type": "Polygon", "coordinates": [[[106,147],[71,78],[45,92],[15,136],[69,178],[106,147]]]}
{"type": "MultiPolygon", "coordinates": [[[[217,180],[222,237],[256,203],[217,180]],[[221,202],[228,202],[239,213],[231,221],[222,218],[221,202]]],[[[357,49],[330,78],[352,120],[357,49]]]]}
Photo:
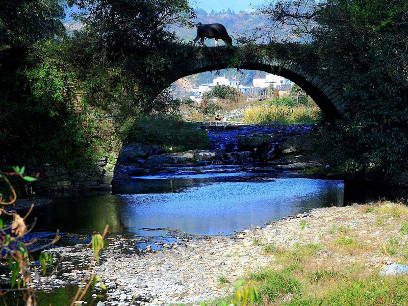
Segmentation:
{"type": "MultiPolygon", "coordinates": [[[[302,129],[307,131],[310,127],[302,129]]],[[[250,127],[210,132],[211,145],[219,150],[237,150],[236,139],[245,136],[247,130],[254,132],[250,127]]],[[[276,179],[273,172],[238,168],[181,168],[171,174],[134,176],[112,194],[54,197],[52,203],[32,212],[28,221],[37,221],[29,238],[44,243],[59,230],[63,235],[61,243],[77,244],[89,241],[90,234],[103,231],[109,224],[111,237],[140,237],[137,247],[155,247],[155,242],[174,241],[174,237],[166,235],[169,228],[190,234],[232,235],[234,231],[264,226],[311,208],[407,198],[399,189],[350,186],[339,180],[276,179]],[[81,236],[85,239],[78,238],[81,236]]],[[[76,290],[73,286],[39,293],[38,301],[40,305],[66,305],[76,290]]],[[[8,295],[8,304],[15,304],[17,298],[8,295]]],[[[84,299],[91,304],[97,302],[89,293],[84,299]]]]}

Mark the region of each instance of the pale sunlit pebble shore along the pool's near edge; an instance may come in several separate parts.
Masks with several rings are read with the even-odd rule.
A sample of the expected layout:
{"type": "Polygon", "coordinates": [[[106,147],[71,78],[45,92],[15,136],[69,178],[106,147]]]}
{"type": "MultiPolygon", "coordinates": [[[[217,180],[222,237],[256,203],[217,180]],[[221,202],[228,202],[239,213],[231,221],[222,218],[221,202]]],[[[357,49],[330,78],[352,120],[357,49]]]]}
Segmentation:
{"type": "MultiPolygon", "coordinates": [[[[407,235],[401,229],[408,216],[405,206],[394,203],[313,209],[266,227],[248,228],[235,237],[180,238],[161,250],[138,250],[134,239],[114,238],[89,273],[100,275],[107,286],[101,304],[198,304],[228,296],[234,284],[263,267],[282,269],[273,249],[296,250],[318,245],[308,266],[344,269],[360,266],[362,274],[405,262],[407,235]]],[[[92,251],[84,245],[49,250],[62,271],[35,280],[36,287],[51,290],[79,285],[89,277],[86,267],[92,251]]],[[[5,275],[4,275],[5,276],[5,275]]]]}

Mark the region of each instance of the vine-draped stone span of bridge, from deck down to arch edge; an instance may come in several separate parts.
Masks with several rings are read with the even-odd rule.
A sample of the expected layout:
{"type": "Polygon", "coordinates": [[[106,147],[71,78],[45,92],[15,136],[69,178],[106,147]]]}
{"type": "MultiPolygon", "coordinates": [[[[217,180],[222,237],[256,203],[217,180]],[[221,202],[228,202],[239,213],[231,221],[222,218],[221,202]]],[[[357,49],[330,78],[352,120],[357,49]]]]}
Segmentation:
{"type": "Polygon", "coordinates": [[[185,53],[175,56],[166,76],[166,86],[200,72],[225,68],[261,70],[299,85],[313,98],[326,119],[347,116],[351,107],[343,99],[341,80],[329,78],[308,46],[277,44],[272,50],[268,48],[270,46],[262,45],[255,50],[228,46],[187,48],[185,53]]]}

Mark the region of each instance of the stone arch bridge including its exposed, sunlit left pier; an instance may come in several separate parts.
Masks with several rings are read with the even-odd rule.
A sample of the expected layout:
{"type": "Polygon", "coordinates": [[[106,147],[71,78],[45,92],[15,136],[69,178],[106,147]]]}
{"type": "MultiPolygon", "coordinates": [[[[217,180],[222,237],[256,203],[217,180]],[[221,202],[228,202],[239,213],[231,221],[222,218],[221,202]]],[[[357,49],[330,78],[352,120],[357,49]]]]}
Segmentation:
{"type": "MultiPolygon", "coordinates": [[[[134,56],[131,56],[129,61],[131,68],[132,63],[138,62],[137,58],[140,51],[146,50],[134,52],[134,56]]],[[[157,72],[158,74],[160,73],[160,77],[164,75],[163,86],[162,88],[151,90],[148,93],[147,99],[155,99],[171,83],[188,75],[224,68],[239,68],[262,70],[277,74],[298,84],[314,99],[328,120],[348,116],[351,110],[351,107],[343,98],[342,82],[336,78],[329,77],[330,73],[327,73],[323,67],[319,66],[313,50],[307,45],[276,44],[273,46],[195,48],[193,46],[179,45],[174,46],[174,48],[170,47],[163,52],[165,52],[167,58],[171,59],[165,73],[163,71],[157,72]]],[[[148,75],[147,80],[145,80],[146,86],[148,84],[155,84],[155,82],[152,82],[152,79],[155,78],[154,74],[148,75]]],[[[143,81],[141,86],[143,87],[143,81]]],[[[111,134],[105,137],[106,141],[111,142],[111,146],[106,151],[105,157],[98,161],[93,169],[88,169],[81,173],[77,172],[73,175],[68,175],[66,170],[61,173],[55,173],[53,174],[54,177],[50,177],[46,183],[43,183],[43,186],[54,191],[110,189],[116,160],[121,150],[121,144],[114,144],[112,140],[115,138],[115,130],[117,129],[115,126],[116,115],[112,111],[107,112],[106,118],[103,119],[112,126],[111,134]]]]}

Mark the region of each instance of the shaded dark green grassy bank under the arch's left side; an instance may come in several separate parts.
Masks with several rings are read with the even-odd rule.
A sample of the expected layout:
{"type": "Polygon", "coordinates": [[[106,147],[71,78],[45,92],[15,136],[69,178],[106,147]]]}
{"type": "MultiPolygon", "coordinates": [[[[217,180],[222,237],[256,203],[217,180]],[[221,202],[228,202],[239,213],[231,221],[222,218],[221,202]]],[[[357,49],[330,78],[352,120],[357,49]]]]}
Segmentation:
{"type": "Polygon", "coordinates": [[[208,133],[177,119],[142,118],[130,127],[125,143],[157,144],[168,152],[208,149],[208,133]]]}

